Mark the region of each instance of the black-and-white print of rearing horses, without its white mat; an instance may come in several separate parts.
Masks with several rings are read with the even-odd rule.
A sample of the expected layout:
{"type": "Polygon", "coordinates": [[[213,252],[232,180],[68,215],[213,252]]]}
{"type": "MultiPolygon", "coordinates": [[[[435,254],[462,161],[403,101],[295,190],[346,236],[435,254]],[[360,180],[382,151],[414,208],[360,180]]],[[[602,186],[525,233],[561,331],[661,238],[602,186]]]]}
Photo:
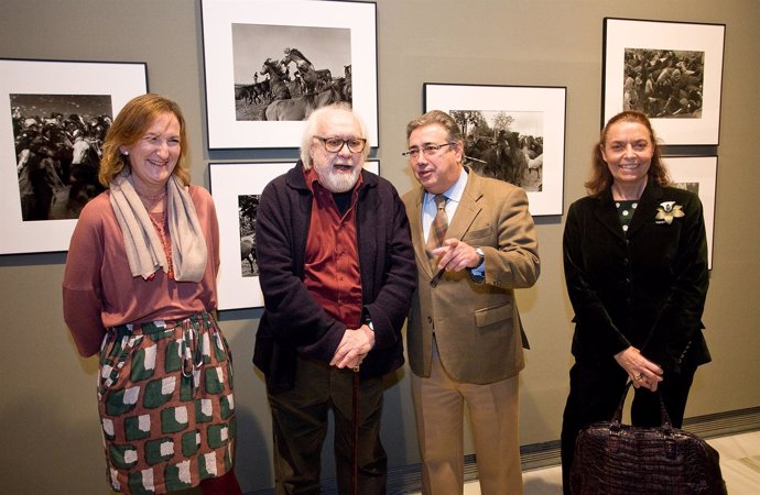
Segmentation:
{"type": "Polygon", "coordinates": [[[351,102],[350,31],[232,24],[236,119],[305,120],[315,109],[351,102]]]}

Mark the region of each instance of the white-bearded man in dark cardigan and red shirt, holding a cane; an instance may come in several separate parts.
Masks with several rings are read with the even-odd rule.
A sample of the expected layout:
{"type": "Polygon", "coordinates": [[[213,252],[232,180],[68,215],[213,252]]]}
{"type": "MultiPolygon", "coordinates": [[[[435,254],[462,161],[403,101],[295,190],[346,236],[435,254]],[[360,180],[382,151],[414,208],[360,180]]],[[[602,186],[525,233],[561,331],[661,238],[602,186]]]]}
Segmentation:
{"type": "Polygon", "coordinates": [[[404,206],[388,180],[362,169],[368,154],[350,107],[321,108],[298,163],[261,195],[264,311],[253,362],[267,377],[278,494],[319,493],[329,410],[338,492],[386,493],[382,376],[404,361],[416,268],[404,206]]]}

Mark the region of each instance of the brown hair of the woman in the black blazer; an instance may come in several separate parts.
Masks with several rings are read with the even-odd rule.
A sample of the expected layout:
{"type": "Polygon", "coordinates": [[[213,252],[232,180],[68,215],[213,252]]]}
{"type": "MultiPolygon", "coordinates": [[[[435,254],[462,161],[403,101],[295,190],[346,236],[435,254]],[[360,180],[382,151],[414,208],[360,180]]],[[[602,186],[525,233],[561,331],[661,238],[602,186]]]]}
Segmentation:
{"type": "Polygon", "coordinates": [[[654,135],[654,130],[652,129],[652,124],[649,121],[649,118],[647,118],[647,116],[644,116],[641,112],[627,110],[612,117],[607,122],[605,129],[601,130],[599,142],[594,145],[591,177],[584,184],[584,186],[586,186],[586,190],[593,197],[598,197],[601,193],[612,187],[612,174],[609,172],[607,163],[601,156],[601,147],[605,145],[607,141],[607,132],[609,131],[609,128],[618,122],[623,121],[640,123],[641,125],[645,127],[649,131],[649,139],[652,142],[652,147],[654,150],[652,153],[652,162],[647,173],[649,178],[651,178],[661,186],[666,186],[671,182],[670,176],[667,175],[667,169],[665,168],[665,165],[662,163],[660,145],[658,144],[658,140],[654,135]]]}

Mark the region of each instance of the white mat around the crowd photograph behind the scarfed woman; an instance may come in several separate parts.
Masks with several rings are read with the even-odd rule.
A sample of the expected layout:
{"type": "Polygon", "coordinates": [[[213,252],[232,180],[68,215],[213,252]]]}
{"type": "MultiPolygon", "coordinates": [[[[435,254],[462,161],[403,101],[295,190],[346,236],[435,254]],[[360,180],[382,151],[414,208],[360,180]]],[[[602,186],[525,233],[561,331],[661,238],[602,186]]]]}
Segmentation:
{"type": "Polygon", "coordinates": [[[116,118],[129,100],[148,91],[146,65],[2,58],[0,74],[8,112],[0,116],[0,254],[68,251],[76,220],[22,219],[10,95],[109,95],[116,118]]]}

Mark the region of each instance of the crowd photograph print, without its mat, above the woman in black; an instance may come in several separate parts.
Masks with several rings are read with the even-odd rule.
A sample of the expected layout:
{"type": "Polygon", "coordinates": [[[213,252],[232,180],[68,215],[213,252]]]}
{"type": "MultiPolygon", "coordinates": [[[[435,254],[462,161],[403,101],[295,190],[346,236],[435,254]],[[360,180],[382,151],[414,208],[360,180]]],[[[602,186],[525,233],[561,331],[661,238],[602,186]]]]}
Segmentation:
{"type": "Polygon", "coordinates": [[[702,117],[704,52],[626,48],[623,110],[650,118],[702,117]]]}

